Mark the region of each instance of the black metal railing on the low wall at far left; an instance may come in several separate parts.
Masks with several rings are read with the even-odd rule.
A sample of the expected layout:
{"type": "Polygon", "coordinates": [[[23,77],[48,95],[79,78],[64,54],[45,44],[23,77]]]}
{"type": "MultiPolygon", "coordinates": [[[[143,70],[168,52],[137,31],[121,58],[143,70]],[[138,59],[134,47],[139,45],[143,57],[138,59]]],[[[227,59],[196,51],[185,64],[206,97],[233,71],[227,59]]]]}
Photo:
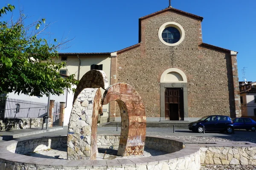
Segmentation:
{"type": "Polygon", "coordinates": [[[42,118],[44,115],[47,115],[47,103],[0,98],[2,118],[42,118]]]}

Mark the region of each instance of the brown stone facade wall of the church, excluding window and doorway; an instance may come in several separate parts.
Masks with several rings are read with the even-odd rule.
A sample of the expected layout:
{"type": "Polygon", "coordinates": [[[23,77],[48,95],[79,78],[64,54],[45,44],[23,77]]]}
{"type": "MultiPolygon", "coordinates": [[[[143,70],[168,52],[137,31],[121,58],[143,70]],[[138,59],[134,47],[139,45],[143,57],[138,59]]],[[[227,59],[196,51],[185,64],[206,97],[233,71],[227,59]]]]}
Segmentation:
{"type": "MultiPolygon", "coordinates": [[[[138,91],[147,117],[160,116],[160,77],[169,68],[186,74],[189,117],[236,115],[230,51],[201,45],[201,36],[200,20],[168,11],[142,20],[137,48],[117,52],[116,82],[138,91]],[[185,39],[177,46],[166,46],[158,38],[160,26],[170,21],[185,29],[185,39]]],[[[115,115],[120,116],[118,109],[115,115]]]]}

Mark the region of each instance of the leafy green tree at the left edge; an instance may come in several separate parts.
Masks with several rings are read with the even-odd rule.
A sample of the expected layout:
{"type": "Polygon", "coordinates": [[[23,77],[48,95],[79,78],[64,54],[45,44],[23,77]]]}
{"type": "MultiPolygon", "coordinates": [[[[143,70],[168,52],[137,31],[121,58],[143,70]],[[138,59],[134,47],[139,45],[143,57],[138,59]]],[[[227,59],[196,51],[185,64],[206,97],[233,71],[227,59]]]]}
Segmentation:
{"type": "Polygon", "coordinates": [[[61,77],[59,69],[65,62],[56,63],[52,59],[58,57],[57,49],[64,43],[52,45],[38,37],[47,28],[45,19],[29,26],[24,25],[26,17],[22,14],[15,22],[1,21],[6,12],[14,9],[10,4],[0,9],[0,94],[48,96],[71,89],[77,83],[74,75],[61,77]]]}

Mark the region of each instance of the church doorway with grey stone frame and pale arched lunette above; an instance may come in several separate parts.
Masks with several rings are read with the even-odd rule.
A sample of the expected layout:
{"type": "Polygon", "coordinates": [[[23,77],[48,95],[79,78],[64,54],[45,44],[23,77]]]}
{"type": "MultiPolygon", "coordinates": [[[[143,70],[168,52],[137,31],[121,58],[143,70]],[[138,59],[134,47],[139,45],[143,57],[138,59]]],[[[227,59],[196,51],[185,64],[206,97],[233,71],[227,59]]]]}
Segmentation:
{"type": "Polygon", "coordinates": [[[177,68],[169,68],[160,79],[161,119],[184,120],[188,117],[186,75],[177,68]]]}

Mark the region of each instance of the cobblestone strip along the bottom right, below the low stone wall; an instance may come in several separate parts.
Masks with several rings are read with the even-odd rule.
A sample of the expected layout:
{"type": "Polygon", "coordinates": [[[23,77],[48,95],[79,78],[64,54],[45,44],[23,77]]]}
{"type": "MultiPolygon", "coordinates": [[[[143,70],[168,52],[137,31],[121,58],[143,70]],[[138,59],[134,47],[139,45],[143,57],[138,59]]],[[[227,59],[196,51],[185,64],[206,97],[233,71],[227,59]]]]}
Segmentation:
{"type": "Polygon", "coordinates": [[[256,170],[256,166],[252,165],[201,165],[200,170],[256,170]]]}

